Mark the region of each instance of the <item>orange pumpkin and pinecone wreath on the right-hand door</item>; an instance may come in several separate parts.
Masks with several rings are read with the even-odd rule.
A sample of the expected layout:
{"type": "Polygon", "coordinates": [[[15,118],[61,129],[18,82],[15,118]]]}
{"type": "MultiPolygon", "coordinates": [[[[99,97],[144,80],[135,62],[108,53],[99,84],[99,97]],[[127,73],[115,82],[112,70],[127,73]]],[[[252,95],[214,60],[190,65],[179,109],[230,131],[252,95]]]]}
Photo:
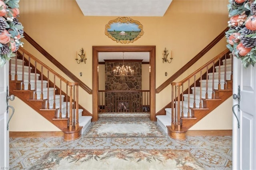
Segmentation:
{"type": "Polygon", "coordinates": [[[228,49],[244,67],[256,63],[256,0],[229,0],[228,49]]]}

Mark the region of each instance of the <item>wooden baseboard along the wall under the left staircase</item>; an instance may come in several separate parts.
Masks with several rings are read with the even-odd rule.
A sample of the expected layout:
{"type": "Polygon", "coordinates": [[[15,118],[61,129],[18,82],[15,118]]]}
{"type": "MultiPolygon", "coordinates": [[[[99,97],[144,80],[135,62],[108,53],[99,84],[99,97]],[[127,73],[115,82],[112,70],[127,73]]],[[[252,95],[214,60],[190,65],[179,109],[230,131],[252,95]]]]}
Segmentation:
{"type": "Polygon", "coordinates": [[[62,131],[9,132],[10,137],[58,137],[64,136],[62,131]]]}

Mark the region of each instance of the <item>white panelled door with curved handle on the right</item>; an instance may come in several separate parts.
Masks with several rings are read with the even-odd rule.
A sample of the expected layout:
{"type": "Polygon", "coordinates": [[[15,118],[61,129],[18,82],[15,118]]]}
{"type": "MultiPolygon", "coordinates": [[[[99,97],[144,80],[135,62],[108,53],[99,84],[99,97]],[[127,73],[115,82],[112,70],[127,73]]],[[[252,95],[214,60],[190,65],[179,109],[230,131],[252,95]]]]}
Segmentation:
{"type": "MultiPolygon", "coordinates": [[[[241,60],[234,57],[233,98],[237,98],[240,85],[240,110],[233,115],[233,169],[256,170],[256,65],[244,68],[241,60]]],[[[238,97],[239,98],[239,97],[238,97]]],[[[238,99],[233,99],[238,105],[238,99]]]]}

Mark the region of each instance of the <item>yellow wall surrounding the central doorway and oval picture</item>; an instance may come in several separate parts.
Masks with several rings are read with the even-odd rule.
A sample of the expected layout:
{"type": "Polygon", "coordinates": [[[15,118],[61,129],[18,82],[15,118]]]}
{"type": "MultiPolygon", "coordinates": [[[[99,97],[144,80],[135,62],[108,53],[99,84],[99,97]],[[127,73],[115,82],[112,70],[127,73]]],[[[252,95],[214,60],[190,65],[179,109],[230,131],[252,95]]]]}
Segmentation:
{"type": "MultiPolygon", "coordinates": [[[[228,21],[227,0],[173,0],[163,17],[130,17],[143,25],[144,35],[133,43],[121,44],[111,40],[104,33],[105,25],[118,16],[83,16],[75,0],[22,0],[19,4],[19,20],[24,26],[24,31],[91,89],[94,45],[156,45],[156,87],[159,87],[216,38],[227,27],[228,21]],[[78,65],[75,61],[76,51],[82,47],[86,51],[87,61],[86,64],[78,65]],[[170,64],[162,63],[164,47],[169,51],[172,50],[174,59],[170,64]],[[80,72],[83,73],[82,77],[79,76],[80,72]],[[168,76],[164,75],[165,72],[168,76]]],[[[24,42],[26,50],[42,58],[42,55],[32,49],[25,40],[24,42]]],[[[223,39],[203,59],[200,59],[193,69],[225,48],[226,42],[223,39]]],[[[47,59],[42,58],[42,61],[56,68],[47,59]]],[[[80,104],[92,113],[92,95],[88,95],[82,89],[79,90],[80,104]]],[[[167,87],[156,94],[156,111],[170,102],[170,95],[166,95],[169,93],[170,87],[167,87]]],[[[15,107],[18,108],[18,105],[15,107]]],[[[227,107],[231,107],[230,103],[227,107]]],[[[20,111],[16,112],[24,114],[19,113],[20,111]]],[[[14,124],[19,120],[14,117],[12,121],[14,124]]],[[[18,131],[18,127],[11,127],[10,130],[18,131]]],[[[34,128],[28,126],[26,130],[33,131],[34,128]]]]}

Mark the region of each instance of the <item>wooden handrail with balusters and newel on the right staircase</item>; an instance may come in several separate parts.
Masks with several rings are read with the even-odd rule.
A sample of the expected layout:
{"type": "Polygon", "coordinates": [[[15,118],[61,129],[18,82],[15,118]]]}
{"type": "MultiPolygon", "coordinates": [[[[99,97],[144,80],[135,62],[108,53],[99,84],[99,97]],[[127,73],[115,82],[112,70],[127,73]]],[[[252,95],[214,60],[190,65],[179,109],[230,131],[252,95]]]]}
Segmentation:
{"type": "MultiPolygon", "coordinates": [[[[216,57],[208,61],[206,64],[204,64],[202,67],[194,71],[192,74],[188,75],[186,78],[184,78],[182,81],[179,82],[172,82],[172,90],[171,90],[171,96],[172,96],[172,109],[171,109],[171,128],[174,131],[185,131],[187,125],[182,124],[182,119],[196,119],[194,117],[195,115],[193,113],[190,113],[190,109],[205,109],[205,106],[203,105],[204,103],[202,102],[203,99],[208,100],[208,99],[216,99],[215,97],[215,92],[216,90],[227,90],[228,85],[227,82],[229,79],[227,79],[227,55],[230,53],[229,49],[225,49],[222,51],[220,54],[218,54],[216,57]],[[221,69],[221,59],[224,59],[224,67],[221,69]],[[215,67],[218,67],[217,68],[215,67]],[[210,67],[210,68],[209,68],[210,67]],[[214,74],[216,69],[216,74],[214,74]],[[223,71],[224,69],[224,71],[223,71]],[[208,78],[208,73],[209,71],[212,71],[212,78],[208,78]],[[221,78],[221,72],[224,74],[224,78],[221,78]],[[198,76],[198,78],[197,78],[198,76]],[[206,77],[206,82],[205,86],[203,85],[203,77],[206,77]],[[217,78],[215,78],[218,77],[217,78]],[[191,80],[191,81],[190,81],[191,80]],[[199,80],[199,82],[198,82],[199,80]],[[214,83],[218,84],[218,87],[214,87],[214,83]],[[224,83],[223,83],[224,82],[224,83]],[[208,86],[208,83],[212,83],[208,86]],[[223,87],[221,87],[221,83],[223,83],[223,87]],[[196,85],[199,85],[196,86],[196,85]],[[212,87],[210,87],[212,86],[212,87]],[[191,87],[194,88],[193,93],[191,87]],[[198,87],[198,89],[196,89],[198,87]],[[202,93],[202,87],[205,88],[205,93],[202,93]],[[210,88],[208,88],[210,87],[210,88]],[[188,89],[187,89],[188,88],[188,89]],[[212,91],[211,97],[208,97],[208,90],[212,91]],[[187,107],[188,111],[184,111],[184,94],[187,95],[187,107]],[[196,99],[196,93],[198,94],[199,99],[196,99]],[[204,95],[204,98],[202,97],[204,95]],[[190,96],[192,96],[191,101],[190,101],[190,96]],[[196,100],[198,100],[198,104],[196,104],[196,100]],[[184,113],[187,113],[187,116],[184,116],[184,113]],[[183,129],[181,129],[183,128],[183,129]]],[[[230,75],[230,80],[232,81],[232,74],[233,74],[233,58],[231,58],[231,75],[230,75]]],[[[219,99],[219,98],[217,98],[219,99]]]]}

